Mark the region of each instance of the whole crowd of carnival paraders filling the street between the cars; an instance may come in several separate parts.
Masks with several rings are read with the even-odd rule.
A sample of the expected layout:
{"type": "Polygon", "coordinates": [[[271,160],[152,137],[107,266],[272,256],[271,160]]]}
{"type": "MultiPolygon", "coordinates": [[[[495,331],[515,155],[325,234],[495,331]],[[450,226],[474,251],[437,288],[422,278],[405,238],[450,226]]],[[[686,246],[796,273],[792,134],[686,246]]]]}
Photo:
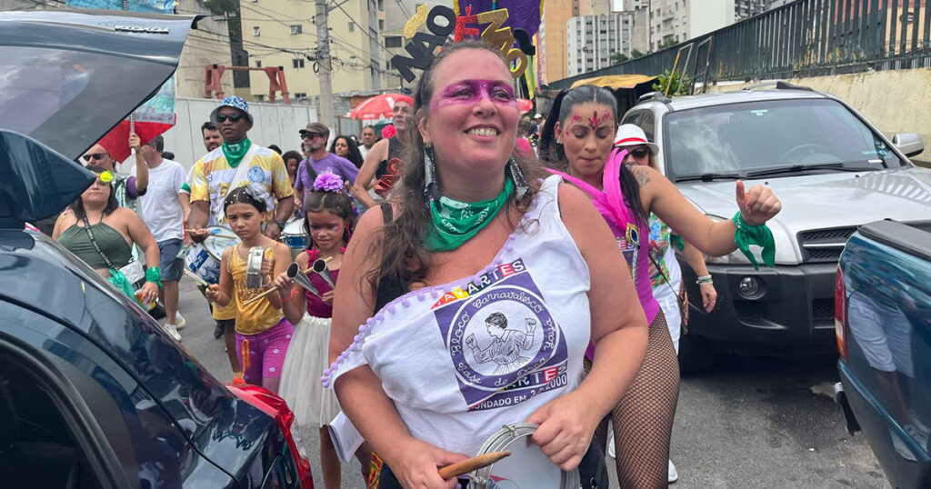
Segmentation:
{"type": "Polygon", "coordinates": [[[98,180],[54,237],[163,305],[179,341],[179,280],[196,275],[234,382],[319,428],[324,487],[340,486],[340,416],[371,487],[466,483],[437,469],[519,422],[585,483],[607,486],[608,453],[622,487],[666,486],[689,305],[677,251],[710,311],[703,253],[734,251],[781,204],[737,182],[733,220],[695,211],[657,146],[618,125],[610,90],[564,91],[546,117],[516,101],[506,61],[475,42],[443,48],[384,139],[313,122],[281,154],[250,141],[248,103],[227,97],[187,172],[160,137],[130,135],[127,172],[90,148],[98,180]],[[192,249],[213,262],[192,265],[192,249]]]}

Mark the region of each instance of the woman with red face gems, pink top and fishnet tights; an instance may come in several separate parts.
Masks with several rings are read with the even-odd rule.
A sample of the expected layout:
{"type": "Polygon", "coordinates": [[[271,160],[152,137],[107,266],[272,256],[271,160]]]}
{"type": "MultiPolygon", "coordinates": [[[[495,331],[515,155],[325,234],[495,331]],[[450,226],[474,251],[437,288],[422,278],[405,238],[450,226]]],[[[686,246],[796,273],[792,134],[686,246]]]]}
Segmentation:
{"type": "MultiPolygon", "coordinates": [[[[546,121],[541,136],[540,156],[558,169],[551,172],[582,189],[600,211],[624,253],[642,311],[650,322],[640,373],[611,414],[617,479],[625,488],[665,487],[669,437],[679,399],[679,364],[666,319],[650,286],[648,216],[654,212],[699,250],[722,256],[735,251],[738,243],[745,243],[742,250],[746,248],[745,229],[768,232],[763,224],[782,206],[770,189],[757,185],[745,192],[744,183],[738,181],[736,203],[740,211],[733,222],[714,223],[658,171],[624,165],[627,151],[614,147],[617,101],[605,88],[583,86],[562,92],[553,102],[552,114],[556,116],[546,121]]],[[[763,256],[767,256],[765,251],[763,256]]],[[[601,423],[597,438],[603,447],[607,419],[601,423]]]]}

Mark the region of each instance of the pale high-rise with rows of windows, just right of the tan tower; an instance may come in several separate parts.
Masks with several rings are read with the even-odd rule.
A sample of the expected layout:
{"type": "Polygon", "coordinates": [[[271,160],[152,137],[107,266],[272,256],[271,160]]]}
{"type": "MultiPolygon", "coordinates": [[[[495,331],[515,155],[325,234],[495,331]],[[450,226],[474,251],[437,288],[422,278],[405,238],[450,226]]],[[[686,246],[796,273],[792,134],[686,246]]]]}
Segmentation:
{"type": "Polygon", "coordinates": [[[566,22],[569,76],[614,64],[614,54],[630,55],[633,15],[609,13],[577,16],[566,22]]]}

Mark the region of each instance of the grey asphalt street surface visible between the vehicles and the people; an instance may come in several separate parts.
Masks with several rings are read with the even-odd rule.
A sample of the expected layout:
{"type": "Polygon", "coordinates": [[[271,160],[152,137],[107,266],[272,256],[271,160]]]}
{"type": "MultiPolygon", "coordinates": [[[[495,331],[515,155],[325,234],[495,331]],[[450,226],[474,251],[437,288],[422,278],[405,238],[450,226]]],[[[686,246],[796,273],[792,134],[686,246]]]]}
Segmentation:
{"type": "MultiPolygon", "coordinates": [[[[182,345],[212,374],[231,381],[206,300],[190,279],[182,279],[181,294],[187,319],[182,345]]],[[[683,378],[671,448],[680,479],[672,487],[889,487],[862,434],[847,433],[841,409],[830,400],[837,380],[833,358],[731,357],[708,374],[683,378]]],[[[317,429],[303,432],[314,482],[322,488],[317,429]]],[[[342,487],[364,487],[358,463],[344,465],[342,487]]]]}

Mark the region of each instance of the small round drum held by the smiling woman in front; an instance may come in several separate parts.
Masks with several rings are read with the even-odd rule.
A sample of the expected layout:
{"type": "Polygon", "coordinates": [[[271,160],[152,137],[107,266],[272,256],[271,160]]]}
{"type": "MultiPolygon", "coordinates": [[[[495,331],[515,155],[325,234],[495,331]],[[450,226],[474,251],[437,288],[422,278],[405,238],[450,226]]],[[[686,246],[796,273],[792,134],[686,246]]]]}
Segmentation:
{"type": "Polygon", "coordinates": [[[509,450],[511,455],[492,465],[469,472],[469,487],[477,489],[578,489],[578,469],[564,471],[533,444],[538,425],[518,423],[495,431],[479,448],[479,454],[509,450]]]}

